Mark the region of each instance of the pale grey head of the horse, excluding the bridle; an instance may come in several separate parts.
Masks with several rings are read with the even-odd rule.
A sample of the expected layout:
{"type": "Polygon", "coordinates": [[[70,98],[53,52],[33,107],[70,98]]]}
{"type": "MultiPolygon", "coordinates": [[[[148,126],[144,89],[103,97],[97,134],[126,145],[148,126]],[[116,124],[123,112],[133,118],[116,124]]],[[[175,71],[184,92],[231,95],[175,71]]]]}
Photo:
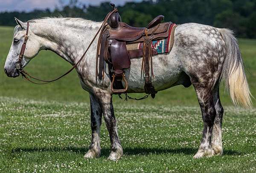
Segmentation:
{"type": "MultiPolygon", "coordinates": [[[[20,50],[24,43],[24,37],[26,35],[27,23],[16,19],[17,26],[14,29],[14,36],[12,40],[12,45],[7,55],[6,62],[4,65],[4,71],[8,77],[18,77],[20,75],[16,68],[16,64],[19,59],[20,50]]],[[[24,68],[28,62],[35,57],[41,49],[41,43],[39,37],[33,34],[29,26],[28,40],[26,43],[26,49],[24,52],[23,59],[21,61],[21,68],[24,68]]]]}

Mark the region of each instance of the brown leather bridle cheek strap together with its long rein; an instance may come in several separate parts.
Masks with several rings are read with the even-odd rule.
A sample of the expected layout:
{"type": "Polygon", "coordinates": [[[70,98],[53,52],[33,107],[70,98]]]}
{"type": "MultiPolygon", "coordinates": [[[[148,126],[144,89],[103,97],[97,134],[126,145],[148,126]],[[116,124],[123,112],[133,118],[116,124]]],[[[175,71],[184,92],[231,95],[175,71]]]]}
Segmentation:
{"type": "MultiPolygon", "coordinates": [[[[102,23],[101,27],[99,28],[99,30],[97,31],[97,33],[95,34],[95,36],[93,37],[93,40],[90,42],[90,44],[88,45],[87,49],[85,50],[84,54],[81,56],[81,58],[78,60],[78,62],[76,62],[75,65],[73,65],[72,68],[70,68],[69,71],[67,71],[65,74],[61,75],[60,77],[56,78],[56,79],[53,79],[53,80],[42,80],[42,79],[38,79],[38,78],[35,78],[35,77],[32,77],[30,74],[28,74],[26,71],[23,70],[23,65],[22,65],[22,60],[23,60],[23,57],[24,57],[24,52],[25,52],[25,49],[26,49],[26,43],[29,39],[29,22],[27,22],[27,28],[26,28],[26,35],[24,37],[24,42],[23,42],[23,45],[21,47],[21,50],[20,50],[20,55],[19,55],[19,59],[16,63],[16,69],[20,72],[20,74],[22,75],[22,77],[24,77],[26,80],[28,80],[29,82],[32,82],[34,84],[47,84],[47,83],[50,83],[50,82],[53,82],[53,81],[56,81],[58,79],[61,79],[62,77],[66,76],[67,74],[69,74],[71,71],[73,71],[74,68],[76,68],[79,63],[81,62],[81,60],[83,60],[85,54],[87,53],[88,49],[90,48],[90,46],[93,44],[93,41],[96,39],[97,35],[99,34],[99,32],[101,31],[100,34],[102,34],[102,31],[104,29],[104,26],[106,25],[109,17],[111,14],[113,14],[114,12],[116,12],[117,9],[113,9],[113,11],[109,12],[108,15],[105,17],[104,19],[104,22],[102,23]],[[37,82],[33,82],[31,79],[35,79],[35,80],[38,80],[38,81],[41,81],[41,82],[44,82],[44,83],[37,83],[37,82]]],[[[98,52],[96,54],[96,61],[98,61],[98,52]]],[[[96,66],[96,69],[97,69],[97,66],[96,66]]]]}

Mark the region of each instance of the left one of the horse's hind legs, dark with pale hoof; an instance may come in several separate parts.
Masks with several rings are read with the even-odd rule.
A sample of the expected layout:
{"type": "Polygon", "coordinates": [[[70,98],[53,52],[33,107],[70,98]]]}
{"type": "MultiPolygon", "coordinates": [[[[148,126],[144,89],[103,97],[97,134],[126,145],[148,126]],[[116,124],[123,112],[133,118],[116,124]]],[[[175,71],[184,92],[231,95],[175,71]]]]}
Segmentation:
{"type": "Polygon", "coordinates": [[[213,93],[210,87],[201,87],[195,85],[196,94],[198,96],[198,102],[201,107],[202,116],[204,120],[204,130],[199,146],[198,152],[194,158],[201,158],[203,156],[212,156],[214,151],[212,150],[211,139],[212,139],[212,128],[213,122],[216,116],[216,111],[213,102],[213,93]]]}

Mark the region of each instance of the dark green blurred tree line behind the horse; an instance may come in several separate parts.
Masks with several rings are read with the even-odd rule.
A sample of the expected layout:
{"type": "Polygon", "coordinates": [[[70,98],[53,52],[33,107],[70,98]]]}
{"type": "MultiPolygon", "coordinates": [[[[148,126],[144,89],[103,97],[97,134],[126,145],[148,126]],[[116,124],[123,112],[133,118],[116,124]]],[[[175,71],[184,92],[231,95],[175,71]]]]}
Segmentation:
{"type": "MultiPolygon", "coordinates": [[[[237,37],[256,38],[256,1],[255,0],[147,0],[127,2],[118,6],[122,21],[136,27],[145,27],[159,14],[164,21],[176,24],[202,23],[218,28],[230,28],[237,37]]],[[[0,26],[15,26],[14,17],[22,21],[38,17],[83,17],[102,21],[112,10],[109,2],[99,6],[85,6],[78,0],[55,8],[54,10],[35,9],[30,12],[1,12],[0,26]]]]}

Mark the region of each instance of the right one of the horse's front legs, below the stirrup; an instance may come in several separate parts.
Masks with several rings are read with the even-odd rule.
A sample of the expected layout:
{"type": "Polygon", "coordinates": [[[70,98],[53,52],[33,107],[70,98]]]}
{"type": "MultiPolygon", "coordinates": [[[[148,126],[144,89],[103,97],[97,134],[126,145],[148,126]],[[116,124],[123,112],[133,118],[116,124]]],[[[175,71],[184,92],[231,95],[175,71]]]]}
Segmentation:
{"type": "Polygon", "coordinates": [[[101,105],[102,113],[110,136],[111,153],[108,159],[116,160],[122,157],[123,150],[117,133],[112,95],[101,91],[97,93],[97,96],[99,98],[99,103],[101,105]]]}

